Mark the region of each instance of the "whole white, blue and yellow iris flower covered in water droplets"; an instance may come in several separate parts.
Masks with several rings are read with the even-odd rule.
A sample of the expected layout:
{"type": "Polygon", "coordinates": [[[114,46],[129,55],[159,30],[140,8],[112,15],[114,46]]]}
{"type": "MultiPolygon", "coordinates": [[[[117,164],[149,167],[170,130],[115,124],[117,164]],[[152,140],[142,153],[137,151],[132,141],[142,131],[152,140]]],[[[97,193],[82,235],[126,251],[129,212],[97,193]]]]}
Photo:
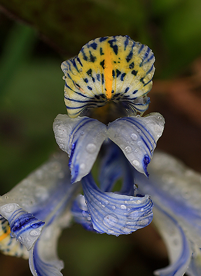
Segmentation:
{"type": "Polygon", "coordinates": [[[0,199],[0,248],[6,254],[29,257],[33,275],[62,275],[57,239],[72,218],[97,233],[130,234],[150,224],[153,201],[155,223],[172,261],[156,273],[179,276],[190,264],[190,275],[196,275],[191,271],[198,269],[198,257],[192,260],[190,254],[200,254],[200,206],[196,209],[188,200],[182,201],[180,191],[165,190],[173,172],[178,175],[172,186],[180,188],[182,179],[171,160],[166,165],[171,157],[157,154],[148,178],[147,166],[164,128],[159,113],[142,117],[149,106],[154,60],[146,45],[114,36],[90,41],[77,57],[62,63],[68,115],[59,114],[53,129],[69,158],[64,153],[65,157],[54,157],[0,199]],[[98,185],[91,171],[95,162],[98,185]],[[121,182],[119,191],[117,182],[121,182]],[[187,212],[182,214],[181,206],[187,212]],[[167,222],[176,233],[176,251],[167,222]],[[196,225],[193,238],[190,231],[184,233],[190,225],[196,225]]]}

